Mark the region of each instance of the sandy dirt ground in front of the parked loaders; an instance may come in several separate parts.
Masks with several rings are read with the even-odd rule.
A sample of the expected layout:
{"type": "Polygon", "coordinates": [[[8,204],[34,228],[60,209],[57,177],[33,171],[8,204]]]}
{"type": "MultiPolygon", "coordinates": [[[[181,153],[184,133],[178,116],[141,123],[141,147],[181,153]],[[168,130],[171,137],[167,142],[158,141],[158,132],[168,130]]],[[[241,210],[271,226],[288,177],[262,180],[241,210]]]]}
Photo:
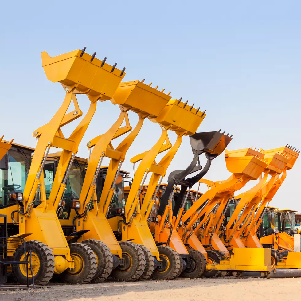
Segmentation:
{"type": "Polygon", "coordinates": [[[51,285],[33,289],[3,290],[0,300],[298,300],[301,278],[176,279],[87,285],[51,285]],[[271,293],[274,292],[274,293],[271,293]]]}

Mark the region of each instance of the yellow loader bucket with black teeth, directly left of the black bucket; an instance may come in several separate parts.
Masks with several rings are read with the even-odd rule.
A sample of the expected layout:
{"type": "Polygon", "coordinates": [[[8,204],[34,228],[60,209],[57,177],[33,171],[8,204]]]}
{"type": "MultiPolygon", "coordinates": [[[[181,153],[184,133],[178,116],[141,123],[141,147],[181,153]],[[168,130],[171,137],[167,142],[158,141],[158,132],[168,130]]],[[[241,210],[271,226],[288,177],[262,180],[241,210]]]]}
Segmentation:
{"type": "Polygon", "coordinates": [[[163,108],[157,118],[151,119],[152,122],[158,122],[162,128],[172,131],[186,132],[185,135],[193,135],[206,114],[192,106],[187,105],[178,99],[172,99],[163,108]]]}

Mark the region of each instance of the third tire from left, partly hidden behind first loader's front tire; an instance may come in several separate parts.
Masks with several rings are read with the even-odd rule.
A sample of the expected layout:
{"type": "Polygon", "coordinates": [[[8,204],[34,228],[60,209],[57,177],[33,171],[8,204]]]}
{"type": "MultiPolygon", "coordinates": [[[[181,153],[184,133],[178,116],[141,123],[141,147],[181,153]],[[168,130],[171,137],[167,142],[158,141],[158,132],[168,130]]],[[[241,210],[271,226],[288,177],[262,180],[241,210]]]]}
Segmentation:
{"type": "Polygon", "coordinates": [[[100,283],[106,280],[113,270],[113,254],[106,244],[98,239],[86,239],[82,241],[92,249],[97,259],[96,273],[91,283],[100,283]]]}

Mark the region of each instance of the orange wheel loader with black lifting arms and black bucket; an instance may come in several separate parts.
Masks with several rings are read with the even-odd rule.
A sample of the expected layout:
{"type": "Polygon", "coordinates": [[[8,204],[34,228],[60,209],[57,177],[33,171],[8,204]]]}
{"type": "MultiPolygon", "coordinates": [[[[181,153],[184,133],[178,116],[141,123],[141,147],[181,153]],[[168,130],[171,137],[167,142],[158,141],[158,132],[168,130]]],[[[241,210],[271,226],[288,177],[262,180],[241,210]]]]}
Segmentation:
{"type": "MultiPolygon", "coordinates": [[[[193,233],[189,233],[187,236],[187,238],[192,237],[192,240],[190,240],[189,243],[185,240],[184,232],[186,226],[182,223],[181,218],[190,193],[190,190],[186,193],[187,187],[191,188],[194,184],[193,180],[208,171],[210,163],[207,164],[205,169],[197,176],[189,179],[191,185],[190,182],[185,182],[185,177],[202,168],[197,164],[199,162],[198,158],[200,154],[208,152],[207,156],[210,157],[211,161],[213,158],[217,157],[220,152],[224,151],[226,145],[230,141],[230,137],[221,134],[220,132],[205,132],[190,135],[190,143],[194,154],[193,161],[186,170],[177,170],[169,175],[168,184],[160,199],[158,210],[152,210],[150,229],[155,240],[160,244],[170,246],[181,256],[181,267],[178,276],[182,274],[184,277],[197,278],[202,276],[205,269],[207,259],[206,251],[199,240],[193,240],[193,233]],[[182,186],[181,191],[174,200],[174,204],[172,204],[178,184],[182,186]],[[186,197],[184,197],[185,193],[186,197]],[[156,222],[156,220],[158,221],[156,222]],[[180,228],[181,230],[184,228],[184,231],[179,230],[180,228]]],[[[195,182],[197,182],[197,180],[195,182]]],[[[148,200],[147,193],[144,196],[143,202],[146,200],[148,200]]]]}

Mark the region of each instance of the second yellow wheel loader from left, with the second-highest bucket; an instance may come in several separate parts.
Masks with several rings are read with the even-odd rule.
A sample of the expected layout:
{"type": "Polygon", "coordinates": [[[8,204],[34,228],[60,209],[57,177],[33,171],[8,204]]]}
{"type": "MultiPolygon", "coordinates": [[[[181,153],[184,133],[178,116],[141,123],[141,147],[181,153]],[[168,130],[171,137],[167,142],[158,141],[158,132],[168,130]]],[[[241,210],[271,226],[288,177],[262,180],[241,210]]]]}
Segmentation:
{"type": "Polygon", "coordinates": [[[108,223],[108,217],[124,215],[125,204],[121,200],[125,172],[121,171],[121,166],[127,150],[137,137],[144,120],[158,116],[170,100],[170,96],[163,93],[164,89],[158,91],[143,82],[137,80],[119,85],[111,100],[113,104],[119,105],[119,118],[106,133],[87,143],[90,155],[82,187],[78,189],[77,198],[65,200],[64,206],[60,204],[62,210],[58,212],[59,217],[62,212],[68,212],[67,217],[63,215],[60,219],[65,234],[74,236],[77,242],[88,244],[99,254],[99,261],[103,262],[100,267],[102,272],[94,278],[94,282],[104,281],[109,275],[117,281],[147,279],[153,271],[151,268],[154,268],[154,259],[149,259],[151,255],[147,248],[128,240],[118,241],[108,223]],[[135,112],[139,117],[132,131],[128,111],[135,112]],[[124,127],[123,121],[126,122],[124,127]],[[112,141],[129,131],[131,133],[114,148],[112,141]],[[105,157],[110,158],[111,162],[104,169],[101,164],[105,157]],[[70,209],[73,201],[79,203],[79,209],[70,209]]]}

